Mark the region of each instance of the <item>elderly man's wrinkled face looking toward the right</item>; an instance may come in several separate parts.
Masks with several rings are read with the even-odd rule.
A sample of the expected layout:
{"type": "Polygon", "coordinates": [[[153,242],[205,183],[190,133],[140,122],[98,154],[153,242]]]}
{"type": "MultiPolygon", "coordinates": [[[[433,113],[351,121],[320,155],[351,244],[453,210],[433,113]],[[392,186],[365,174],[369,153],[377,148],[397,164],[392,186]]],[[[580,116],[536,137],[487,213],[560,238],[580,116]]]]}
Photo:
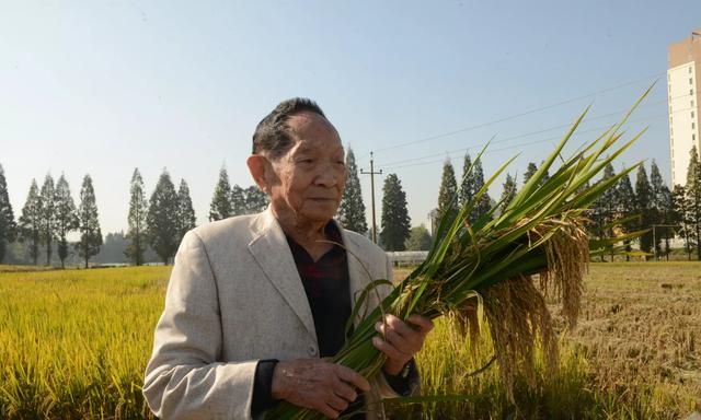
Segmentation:
{"type": "Polygon", "coordinates": [[[314,113],[292,115],[288,126],[295,143],[271,162],[271,201],[278,213],[291,211],[298,223],[326,222],[336,213],[346,182],[341,139],[314,113]]]}

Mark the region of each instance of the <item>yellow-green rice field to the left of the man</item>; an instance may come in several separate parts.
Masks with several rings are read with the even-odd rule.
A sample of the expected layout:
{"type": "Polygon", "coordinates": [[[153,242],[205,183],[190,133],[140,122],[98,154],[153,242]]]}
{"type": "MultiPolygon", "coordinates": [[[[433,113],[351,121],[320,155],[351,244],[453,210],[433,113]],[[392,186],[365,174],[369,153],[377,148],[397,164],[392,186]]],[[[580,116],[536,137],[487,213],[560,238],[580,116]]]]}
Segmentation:
{"type": "Polygon", "coordinates": [[[170,268],[0,275],[0,418],[143,418],[170,268]]]}

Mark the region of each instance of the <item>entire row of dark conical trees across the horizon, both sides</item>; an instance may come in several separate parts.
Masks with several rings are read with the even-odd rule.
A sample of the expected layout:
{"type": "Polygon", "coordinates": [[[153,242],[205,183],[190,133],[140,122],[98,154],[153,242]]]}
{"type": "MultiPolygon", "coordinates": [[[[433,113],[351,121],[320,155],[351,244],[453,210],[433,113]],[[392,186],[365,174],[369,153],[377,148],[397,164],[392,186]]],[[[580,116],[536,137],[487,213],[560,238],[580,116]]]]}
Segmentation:
{"type": "MultiPolygon", "coordinates": [[[[668,257],[671,238],[679,236],[683,241],[688,258],[691,259],[696,253],[697,258],[701,259],[701,163],[696,147],[690,154],[685,186],[676,185],[669,190],[654,160],[650,165],[650,176],[644,165],[637,167],[634,186],[629,175],[621,177],[589,210],[589,235],[608,238],[644,231],[637,240],[640,250],[658,257],[668,257]]],[[[350,148],[346,153],[346,188],[337,219],[344,228],[370,235],[358,167],[350,148]]],[[[443,218],[455,217],[451,214],[455,211],[453,201],[458,201],[459,206],[464,205],[484,189],[469,215],[470,222],[474,222],[479,218],[492,217],[493,207],[496,207],[496,213],[503,211],[516,195],[516,175],[506,175],[502,196],[496,201],[486,190],[480,159],[472,161],[470,154],[466,154],[462,170],[464,175],[458,185],[450,160],[444,163],[438,202],[432,212],[432,232],[436,231],[443,218]]],[[[522,184],[526,184],[537,171],[538,165],[530,162],[524,173],[522,184]]],[[[545,178],[547,176],[545,174],[545,178]]],[[[614,168],[608,165],[598,182],[605,182],[612,176],[616,176],[614,168]]],[[[231,186],[228,173],[222,167],[215,186],[209,220],[258,212],[267,205],[267,196],[256,186],[231,186]]],[[[168,264],[183,235],[195,228],[195,221],[189,188],[185,179],[181,179],[180,187],[175,190],[168,171],[163,170],[150,199],[147,200],[143,180],[138,168],[135,168],[130,182],[125,250],[131,264],[143,264],[143,255],[148,247],[168,264]]],[[[428,230],[423,225],[413,229],[411,226],[406,194],[397,174],[389,174],[384,178],[380,222],[381,231],[378,237],[386,250],[428,249],[430,246],[432,237],[428,230]]],[[[35,265],[38,264],[41,246],[45,246],[48,265],[51,258],[51,243],[57,242],[62,267],[71,248],[67,235],[73,231],[80,234],[80,240],[72,244],[72,248],[84,259],[87,267],[90,258],[97,254],[102,245],[95,192],[90,175],[83,178],[78,207],[73,203],[64,175],[56,185],[51,176],[47,175],[41,189],[33,179],[22,215],[15,223],[8,198],[4,172],[0,165],[0,262],[3,260],[7,244],[21,241],[28,245],[35,265]]],[[[632,250],[630,241],[624,246],[629,252],[632,250]]]]}

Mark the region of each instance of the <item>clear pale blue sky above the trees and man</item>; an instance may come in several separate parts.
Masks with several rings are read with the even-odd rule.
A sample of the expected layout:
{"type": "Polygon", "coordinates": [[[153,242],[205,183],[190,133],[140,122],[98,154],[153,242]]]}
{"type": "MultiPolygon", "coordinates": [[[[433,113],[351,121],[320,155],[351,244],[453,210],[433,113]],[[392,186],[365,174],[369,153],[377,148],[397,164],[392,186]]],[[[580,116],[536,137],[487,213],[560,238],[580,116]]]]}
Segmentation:
{"type": "MultiPolygon", "coordinates": [[[[381,186],[398,174],[412,224],[428,224],[443,164],[489,176],[539,163],[588,105],[572,148],[621,118],[647,128],[617,162],[669,176],[667,48],[701,27],[701,1],[0,0],[0,165],[15,217],[35,178],[95,188],[102,232],[127,230],[135,167],[165,168],[207,222],[219,170],[253,184],[256,124],[292,96],[317,101],[381,186]],[[648,167],[648,166],[647,166],[648,167]]],[[[360,175],[370,214],[370,177],[360,175]]],[[[520,179],[519,179],[520,180],[520,179]]],[[[501,194],[503,177],[490,189],[501,194]]]]}

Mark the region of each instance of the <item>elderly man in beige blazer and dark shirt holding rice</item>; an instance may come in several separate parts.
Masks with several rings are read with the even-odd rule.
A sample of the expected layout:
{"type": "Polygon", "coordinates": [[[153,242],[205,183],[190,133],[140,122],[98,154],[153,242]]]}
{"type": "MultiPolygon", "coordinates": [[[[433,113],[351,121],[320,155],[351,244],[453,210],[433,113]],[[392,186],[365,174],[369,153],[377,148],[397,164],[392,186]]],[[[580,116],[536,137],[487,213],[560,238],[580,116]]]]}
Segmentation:
{"type": "Polygon", "coordinates": [[[433,324],[388,315],[374,339],[387,362],[369,382],[327,359],[356,292],[392,275],[382,249],[332,220],[346,177],[338,133],[315,103],[285,101],[258,124],[246,164],[271,205],[183,238],[146,371],[149,407],[164,419],[249,419],[287,400],[381,418],[381,397],[416,389],[412,360],[433,324]]]}

